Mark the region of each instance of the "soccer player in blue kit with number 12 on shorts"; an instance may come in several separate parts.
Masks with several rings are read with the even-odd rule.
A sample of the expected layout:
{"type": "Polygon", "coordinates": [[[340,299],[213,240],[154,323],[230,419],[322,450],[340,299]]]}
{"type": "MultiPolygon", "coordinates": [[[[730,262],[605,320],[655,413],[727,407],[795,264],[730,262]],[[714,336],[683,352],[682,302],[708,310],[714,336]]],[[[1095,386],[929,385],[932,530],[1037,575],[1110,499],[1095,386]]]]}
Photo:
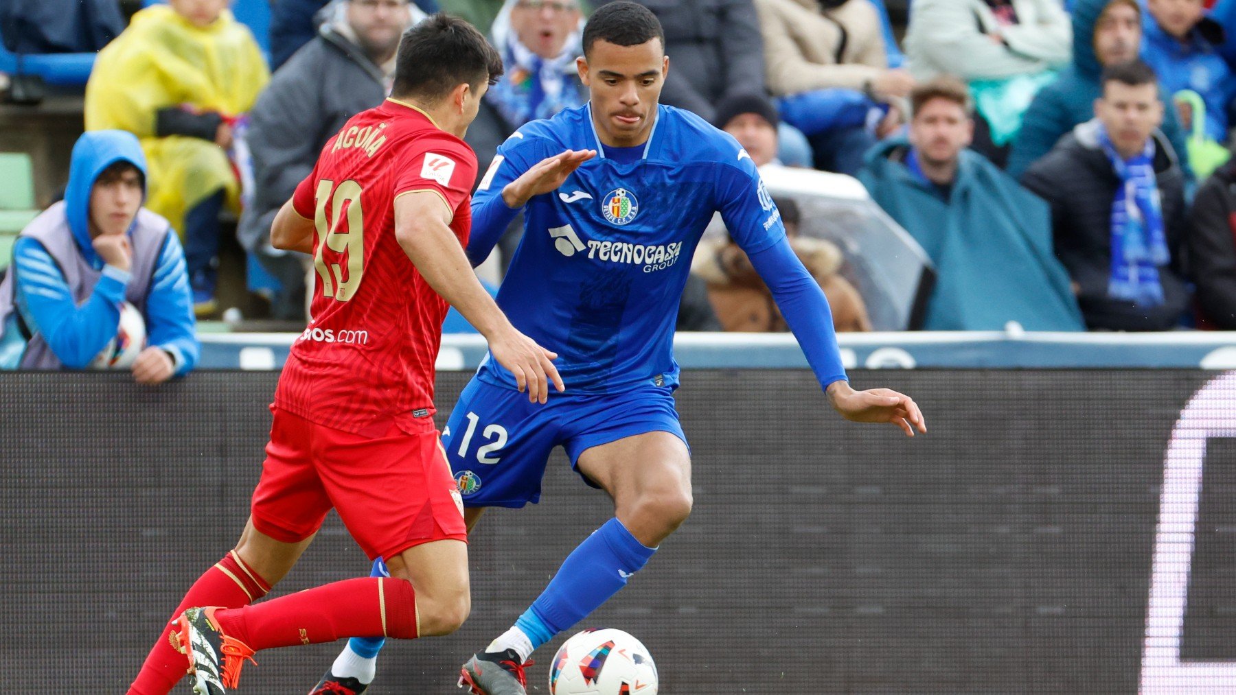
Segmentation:
{"type": "MultiPolygon", "coordinates": [[[[772,290],[832,406],[908,436],[927,431],[908,396],[849,386],[828,302],[790,248],[750,157],[698,116],[658,104],[669,58],[656,17],[634,2],[601,5],[583,53],[577,67],[591,101],[524,125],[498,148],[472,198],[467,246],[480,264],[524,211],[498,305],[559,353],[566,391],[529,402],[517,390],[523,377],[487,358],[442,446],[470,530],[487,506],[536,502],[557,446],[587,484],[609,494],[616,514],[510,630],[464,664],[460,685],[478,695],[525,695],[533,649],[622,589],[691,512],[671,348],[691,256],[714,211],[772,290]]],[[[340,689],[318,691],[363,691],[379,646],[352,639],[323,679],[340,689]]]]}

